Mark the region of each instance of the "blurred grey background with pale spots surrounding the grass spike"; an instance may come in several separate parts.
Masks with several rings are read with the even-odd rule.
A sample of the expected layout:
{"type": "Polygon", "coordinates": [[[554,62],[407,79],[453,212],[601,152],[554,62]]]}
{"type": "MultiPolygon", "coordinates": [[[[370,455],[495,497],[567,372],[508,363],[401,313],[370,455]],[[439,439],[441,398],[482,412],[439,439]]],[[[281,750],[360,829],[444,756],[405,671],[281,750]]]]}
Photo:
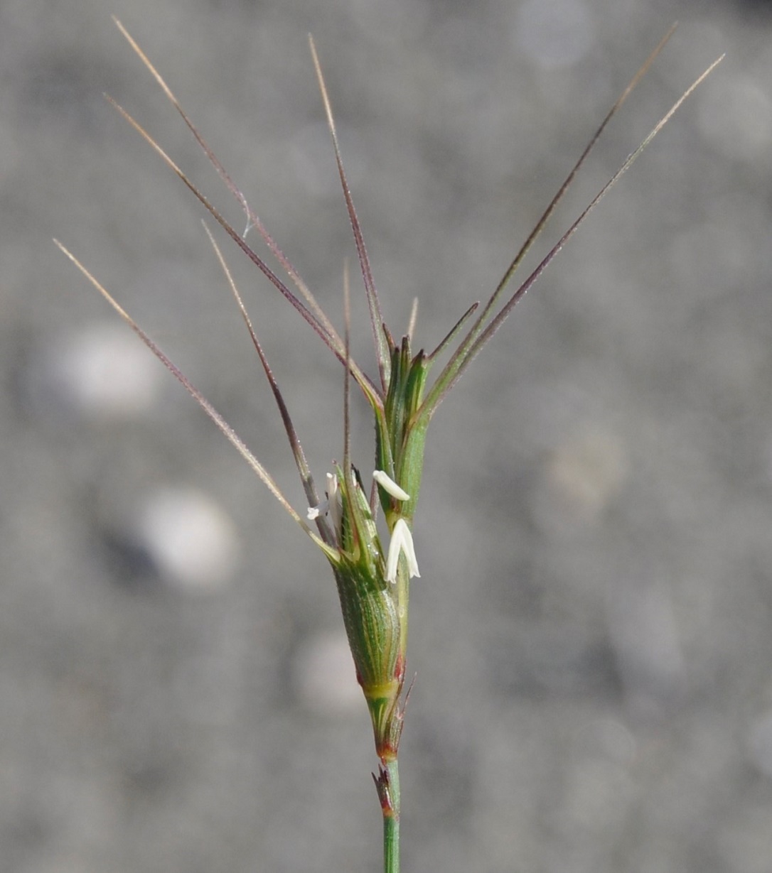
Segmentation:
{"type": "MultiPolygon", "coordinates": [[[[531,267],[727,52],[430,430],[403,866],[768,873],[772,18],[739,0],[0,6],[2,870],[380,865],[325,561],[51,242],[302,510],[203,210],[102,93],[244,219],[111,13],[340,325],[354,249],[314,32],[387,320],[417,296],[426,347],[493,289],[674,19],[531,267]]],[[[224,243],[323,482],[341,368],[224,243]]],[[[355,429],[369,476],[359,398],[355,429]]]]}

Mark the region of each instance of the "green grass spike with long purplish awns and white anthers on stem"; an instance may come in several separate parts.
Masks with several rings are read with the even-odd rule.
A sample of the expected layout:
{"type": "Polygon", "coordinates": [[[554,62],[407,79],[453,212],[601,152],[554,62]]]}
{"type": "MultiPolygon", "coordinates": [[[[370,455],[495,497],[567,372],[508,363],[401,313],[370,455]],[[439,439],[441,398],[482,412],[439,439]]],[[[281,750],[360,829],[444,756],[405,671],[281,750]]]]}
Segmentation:
{"type": "Polygon", "coordinates": [[[263,255],[252,248],[252,245],[247,242],[246,233],[235,230],[231,223],[226,221],[201,190],[190,182],[183,170],[163,151],[154,138],[114,100],[111,98],[108,100],[155,149],[155,152],[161,156],[169,168],[179,176],[193,195],[203,204],[210,217],[223,228],[228,237],[231,237],[231,240],[252,261],[252,264],[258,267],[258,270],[265,275],[273,287],[297,310],[300,317],[307,322],[308,327],[317,334],[341,363],[343,375],[341,381],[342,460],[340,464],[332,465],[331,471],[327,473],[326,485],[323,491],[320,491],[307,464],[300,437],[293,425],[285,397],[279,389],[279,384],[273,375],[269,362],[266,360],[245,304],[225,263],[223,253],[211,230],[206,227],[210,243],[245,320],[247,330],[252,337],[252,343],[276,400],[307,498],[307,511],[298,512],[290,504],[270,472],[265,469],[246,443],[219,415],[217,409],[190,383],[183,372],[169,360],[162,349],[148,336],[148,333],[145,333],[136,324],[114,297],[93,277],[92,273],[63,244],[58,241],[57,244],[114,307],[121,318],[128,323],[128,326],[139,335],[150,351],[162,361],[179,382],[182,382],[183,387],[250,464],[258,478],[278,500],[279,505],[284,508],[302,532],[314,541],[327,560],[341,601],[341,612],[355,664],[356,679],[362,686],[373,727],[376,755],[379,761],[378,772],[373,774],[373,778],[383,813],[383,870],[385,873],[397,873],[399,870],[400,833],[400,788],[397,761],[407,698],[405,677],[410,580],[420,575],[410,532],[417,511],[424,465],[424,447],[431,419],[439,404],[458,382],[458,379],[464,375],[466,368],[507,320],[514,306],[534,285],[534,282],[541,276],[541,273],[553,261],[562,247],[574,236],[576,230],[585,222],[589,213],[595,210],[603,196],[616,184],[620,176],[631,167],[644,148],[672,118],[673,113],[679,109],[684,100],[713,71],[721,58],[714,61],[693,82],[693,85],[686,89],[679,100],[652,128],[651,133],[644,138],[638,148],[635,148],[617,172],[592,198],[587,207],[576,218],[576,221],[571,223],[568,230],[565,230],[558,238],[545,257],[541,259],[541,263],[513,290],[511,288],[512,278],[527,251],[534,244],[536,237],[544,230],[557,204],[561,202],[576,173],[582,167],[598,138],[603,134],[605,127],[664,48],[665,43],[672,35],[674,29],[672,28],[651,52],[631,83],[611,107],[565,182],[548,204],[541,218],[535,223],[534,230],[528,235],[520,251],[513,258],[490,298],[482,306],[479,302],[473,302],[450,327],[445,339],[440,342],[438,347],[426,352],[423,348],[416,349],[415,347],[417,303],[414,304],[407,332],[402,337],[393,333],[384,323],[376,284],[365,249],[362,227],[356,214],[341,158],[341,148],[335,130],[327,87],[322,77],[314,41],[311,39],[310,49],[314,68],[319,81],[324,111],[327,115],[327,126],[332,138],[334,159],[337,163],[348,217],[354,233],[364,293],[369,308],[376,373],[368,375],[366,369],[361,367],[350,353],[348,275],[344,282],[345,320],[341,335],[334,327],[332,320],[322,311],[314,294],[300,278],[299,273],[252,210],[241,189],[232,181],[231,176],[217,160],[216,155],[203,140],[189,116],[183,111],[161,74],[157,72],[155,66],[121,23],[116,21],[116,24],[123,36],[128,39],[134,52],[153,75],[158,86],[162,88],[163,93],[169,98],[173,107],[182,116],[184,123],[190,128],[190,132],[209,158],[212,166],[217,170],[217,174],[220,175],[232,195],[237,198],[245,211],[248,230],[256,230],[268,251],[272,253],[286,274],[286,279],[274,272],[263,255]],[[431,370],[444,353],[447,353],[448,360],[442,368],[439,368],[438,374],[431,381],[431,370]],[[374,472],[369,477],[362,476],[351,457],[349,405],[352,382],[368,402],[375,423],[375,463],[374,472]],[[385,528],[389,534],[388,542],[384,542],[378,532],[377,518],[379,513],[383,513],[385,528]]]}

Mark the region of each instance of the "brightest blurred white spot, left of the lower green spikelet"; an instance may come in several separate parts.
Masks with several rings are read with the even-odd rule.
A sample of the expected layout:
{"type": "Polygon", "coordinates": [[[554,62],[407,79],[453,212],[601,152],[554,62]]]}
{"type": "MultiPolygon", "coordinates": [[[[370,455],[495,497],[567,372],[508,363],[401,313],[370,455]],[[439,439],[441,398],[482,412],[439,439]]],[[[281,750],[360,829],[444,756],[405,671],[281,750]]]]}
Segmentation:
{"type": "Polygon", "coordinates": [[[156,491],[141,508],[137,534],[159,573],[180,588],[219,588],[238,565],[231,519],[200,491],[156,491]]]}

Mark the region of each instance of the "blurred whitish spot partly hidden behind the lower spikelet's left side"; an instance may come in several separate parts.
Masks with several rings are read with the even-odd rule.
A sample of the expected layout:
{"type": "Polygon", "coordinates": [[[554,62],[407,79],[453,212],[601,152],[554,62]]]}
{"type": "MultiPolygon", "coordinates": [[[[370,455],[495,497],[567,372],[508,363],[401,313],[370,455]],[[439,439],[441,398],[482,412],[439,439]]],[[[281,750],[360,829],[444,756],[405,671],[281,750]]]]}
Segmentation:
{"type": "Polygon", "coordinates": [[[300,646],[293,662],[293,683],[305,705],[327,715],[353,710],[362,703],[342,631],[315,634],[300,646]]]}

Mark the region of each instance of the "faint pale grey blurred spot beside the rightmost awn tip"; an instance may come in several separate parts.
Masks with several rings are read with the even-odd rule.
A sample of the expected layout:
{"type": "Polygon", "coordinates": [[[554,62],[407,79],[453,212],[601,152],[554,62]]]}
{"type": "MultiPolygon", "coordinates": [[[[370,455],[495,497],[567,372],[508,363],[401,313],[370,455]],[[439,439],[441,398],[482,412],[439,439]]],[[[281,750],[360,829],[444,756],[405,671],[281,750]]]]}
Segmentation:
{"type": "Polygon", "coordinates": [[[720,76],[700,91],[700,129],[731,158],[766,157],[772,146],[772,102],[754,79],[720,76]]]}

